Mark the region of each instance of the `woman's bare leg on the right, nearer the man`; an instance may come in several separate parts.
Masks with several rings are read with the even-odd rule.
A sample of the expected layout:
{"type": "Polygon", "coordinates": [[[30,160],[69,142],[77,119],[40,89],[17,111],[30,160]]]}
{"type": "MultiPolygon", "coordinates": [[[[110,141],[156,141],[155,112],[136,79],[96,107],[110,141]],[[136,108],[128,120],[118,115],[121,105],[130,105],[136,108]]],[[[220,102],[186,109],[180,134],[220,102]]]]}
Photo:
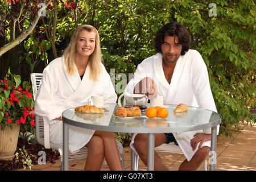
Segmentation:
{"type": "Polygon", "coordinates": [[[94,135],[101,137],[104,142],[104,156],[110,170],[121,171],[123,168],[117,143],[115,142],[114,133],[107,131],[95,131],[94,135]]]}

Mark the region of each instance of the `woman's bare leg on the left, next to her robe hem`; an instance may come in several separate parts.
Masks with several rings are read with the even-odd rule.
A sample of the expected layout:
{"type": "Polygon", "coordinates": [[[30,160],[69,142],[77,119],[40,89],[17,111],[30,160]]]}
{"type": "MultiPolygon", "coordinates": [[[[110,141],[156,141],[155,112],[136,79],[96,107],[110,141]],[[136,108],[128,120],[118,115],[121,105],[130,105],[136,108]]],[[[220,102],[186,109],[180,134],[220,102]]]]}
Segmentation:
{"type": "Polygon", "coordinates": [[[84,170],[100,171],[104,159],[104,142],[102,138],[93,135],[85,147],[88,148],[88,155],[84,170]]]}

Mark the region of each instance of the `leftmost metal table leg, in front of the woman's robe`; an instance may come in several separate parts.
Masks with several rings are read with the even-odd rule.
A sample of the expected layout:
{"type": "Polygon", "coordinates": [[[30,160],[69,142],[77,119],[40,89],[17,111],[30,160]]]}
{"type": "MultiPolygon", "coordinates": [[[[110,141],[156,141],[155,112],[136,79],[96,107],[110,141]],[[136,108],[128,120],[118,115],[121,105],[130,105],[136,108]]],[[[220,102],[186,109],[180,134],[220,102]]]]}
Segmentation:
{"type": "Polygon", "coordinates": [[[63,170],[68,171],[68,124],[63,122],[63,170]]]}

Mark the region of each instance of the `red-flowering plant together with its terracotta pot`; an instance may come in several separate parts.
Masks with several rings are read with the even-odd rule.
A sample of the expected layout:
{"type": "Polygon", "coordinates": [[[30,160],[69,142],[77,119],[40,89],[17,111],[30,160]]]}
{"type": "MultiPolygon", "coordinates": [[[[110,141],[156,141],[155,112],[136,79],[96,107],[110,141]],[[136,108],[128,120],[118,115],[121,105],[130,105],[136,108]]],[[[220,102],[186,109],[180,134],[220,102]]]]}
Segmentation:
{"type": "Polygon", "coordinates": [[[19,75],[8,73],[0,80],[0,160],[12,160],[16,151],[19,130],[35,131],[34,101],[28,92],[28,82],[20,87],[19,75]]]}

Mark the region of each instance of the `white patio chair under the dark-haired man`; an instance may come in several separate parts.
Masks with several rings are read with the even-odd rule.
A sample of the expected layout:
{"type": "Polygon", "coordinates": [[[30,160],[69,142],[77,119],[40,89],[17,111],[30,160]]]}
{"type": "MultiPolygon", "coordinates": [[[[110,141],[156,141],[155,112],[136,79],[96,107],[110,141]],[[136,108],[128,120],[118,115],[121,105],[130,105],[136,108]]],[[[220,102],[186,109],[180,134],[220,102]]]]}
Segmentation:
{"type": "MultiPolygon", "coordinates": [[[[184,155],[179,146],[176,146],[174,142],[164,143],[158,147],[155,147],[155,152],[157,154],[165,155],[184,155]]],[[[134,166],[134,171],[138,171],[139,155],[135,154],[131,150],[131,166],[134,166]]],[[[133,170],[133,169],[132,169],[133,170]]],[[[207,171],[207,160],[204,162],[204,171],[207,171]]]]}

